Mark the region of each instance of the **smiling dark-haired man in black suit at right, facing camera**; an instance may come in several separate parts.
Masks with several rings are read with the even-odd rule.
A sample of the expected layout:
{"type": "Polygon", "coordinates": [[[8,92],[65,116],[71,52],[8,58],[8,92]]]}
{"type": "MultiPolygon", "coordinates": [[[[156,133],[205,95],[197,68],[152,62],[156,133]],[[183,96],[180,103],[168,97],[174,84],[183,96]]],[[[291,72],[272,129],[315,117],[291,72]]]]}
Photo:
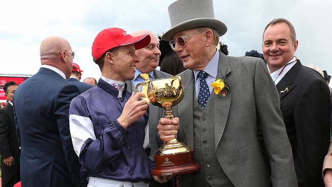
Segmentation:
{"type": "Polygon", "coordinates": [[[298,186],[324,186],[321,170],[329,144],[329,90],[321,75],[294,56],[297,46],[295,29],[287,19],[274,19],[265,27],[263,54],[279,92],[298,186]]]}

